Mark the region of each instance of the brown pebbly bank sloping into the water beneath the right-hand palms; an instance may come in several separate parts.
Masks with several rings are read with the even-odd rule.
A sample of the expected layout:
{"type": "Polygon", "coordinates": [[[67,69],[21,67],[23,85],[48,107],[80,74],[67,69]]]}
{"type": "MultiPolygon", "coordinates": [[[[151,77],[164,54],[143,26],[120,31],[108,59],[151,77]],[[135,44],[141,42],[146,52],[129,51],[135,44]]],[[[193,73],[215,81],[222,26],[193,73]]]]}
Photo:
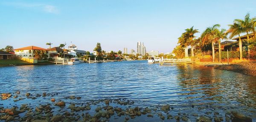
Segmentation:
{"type": "Polygon", "coordinates": [[[219,70],[233,71],[250,76],[256,76],[256,62],[241,62],[238,64],[230,65],[215,65],[214,68],[219,70]]]}

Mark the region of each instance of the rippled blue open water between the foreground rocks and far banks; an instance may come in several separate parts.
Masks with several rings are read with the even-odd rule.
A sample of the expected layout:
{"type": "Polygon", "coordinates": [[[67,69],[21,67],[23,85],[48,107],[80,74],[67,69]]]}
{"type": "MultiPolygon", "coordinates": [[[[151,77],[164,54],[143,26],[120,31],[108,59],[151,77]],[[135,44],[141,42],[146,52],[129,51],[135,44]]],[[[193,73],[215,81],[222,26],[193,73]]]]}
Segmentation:
{"type": "MultiPolygon", "coordinates": [[[[0,93],[58,93],[55,99],[81,96],[93,99],[128,99],[138,106],[169,104],[173,113],[205,114],[191,106],[227,107],[256,118],[256,77],[192,64],[163,65],[122,61],[77,65],[0,67],[0,93]]],[[[65,100],[70,102],[71,100],[65,100]]],[[[0,101],[4,105],[46,100],[0,101]]],[[[225,111],[220,111],[224,114],[225,111]]],[[[193,120],[193,119],[192,119],[193,120]]]]}

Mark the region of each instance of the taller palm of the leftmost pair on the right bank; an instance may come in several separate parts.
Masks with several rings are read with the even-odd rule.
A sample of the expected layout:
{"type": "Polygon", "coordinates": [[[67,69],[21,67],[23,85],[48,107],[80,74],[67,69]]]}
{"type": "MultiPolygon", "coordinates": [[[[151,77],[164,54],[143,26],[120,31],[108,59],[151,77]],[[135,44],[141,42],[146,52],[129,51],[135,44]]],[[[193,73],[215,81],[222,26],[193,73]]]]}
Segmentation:
{"type": "Polygon", "coordinates": [[[188,40],[189,40],[189,43],[191,45],[191,56],[194,57],[194,38],[195,38],[195,33],[198,33],[198,29],[193,29],[194,26],[192,26],[191,28],[188,28],[188,29],[185,29],[186,30],[186,35],[188,36],[188,40]]]}

